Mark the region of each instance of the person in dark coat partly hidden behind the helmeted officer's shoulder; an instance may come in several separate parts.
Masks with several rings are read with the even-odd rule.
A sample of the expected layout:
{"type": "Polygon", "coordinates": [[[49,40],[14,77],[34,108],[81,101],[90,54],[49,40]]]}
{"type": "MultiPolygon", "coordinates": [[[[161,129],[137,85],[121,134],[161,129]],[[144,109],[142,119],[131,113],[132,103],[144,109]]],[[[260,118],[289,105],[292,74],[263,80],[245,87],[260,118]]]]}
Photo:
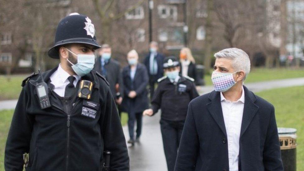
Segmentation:
{"type": "Polygon", "coordinates": [[[123,99],[123,83],[121,77],[121,67],[118,61],[112,58],[112,50],[108,44],[103,44],[97,51],[97,58],[94,69],[102,74],[110,84],[112,95],[121,116],[121,102],[123,99]]]}

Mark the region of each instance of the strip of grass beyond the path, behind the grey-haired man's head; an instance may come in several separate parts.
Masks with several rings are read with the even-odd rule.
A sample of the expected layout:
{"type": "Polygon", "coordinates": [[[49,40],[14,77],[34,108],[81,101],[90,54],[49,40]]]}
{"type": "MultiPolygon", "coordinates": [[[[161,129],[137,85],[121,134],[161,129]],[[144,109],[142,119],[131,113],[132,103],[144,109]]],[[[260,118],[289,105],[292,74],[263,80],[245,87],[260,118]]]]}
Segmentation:
{"type": "MultiPolygon", "coordinates": [[[[212,71],[210,72],[212,73],[212,71]]],[[[266,69],[266,68],[254,68],[251,69],[245,83],[260,82],[260,81],[270,81],[275,79],[285,79],[285,78],[298,78],[304,77],[304,69],[266,69]]],[[[212,85],[211,75],[205,75],[206,85],[212,85]]]]}

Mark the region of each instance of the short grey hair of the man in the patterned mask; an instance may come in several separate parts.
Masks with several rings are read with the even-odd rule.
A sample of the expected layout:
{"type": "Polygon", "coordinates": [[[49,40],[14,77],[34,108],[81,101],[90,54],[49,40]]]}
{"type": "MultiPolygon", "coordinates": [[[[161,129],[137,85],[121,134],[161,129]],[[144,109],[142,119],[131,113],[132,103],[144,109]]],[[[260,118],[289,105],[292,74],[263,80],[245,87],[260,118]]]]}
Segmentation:
{"type": "Polygon", "coordinates": [[[245,72],[245,77],[243,80],[246,79],[247,75],[250,72],[250,59],[244,50],[238,48],[227,48],[216,52],[214,54],[214,57],[231,59],[232,67],[236,72],[241,70],[245,72]]]}

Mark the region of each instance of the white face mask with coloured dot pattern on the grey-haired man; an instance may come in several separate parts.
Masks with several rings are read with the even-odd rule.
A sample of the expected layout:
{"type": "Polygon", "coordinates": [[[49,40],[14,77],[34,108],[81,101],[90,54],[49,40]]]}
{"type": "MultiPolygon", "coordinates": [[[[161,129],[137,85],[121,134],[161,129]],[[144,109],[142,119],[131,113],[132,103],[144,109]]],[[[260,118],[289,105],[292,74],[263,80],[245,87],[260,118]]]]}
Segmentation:
{"type": "Polygon", "coordinates": [[[232,86],[236,84],[236,81],[233,79],[234,73],[220,73],[220,72],[212,72],[211,80],[214,86],[215,91],[217,92],[226,92],[232,86]]]}

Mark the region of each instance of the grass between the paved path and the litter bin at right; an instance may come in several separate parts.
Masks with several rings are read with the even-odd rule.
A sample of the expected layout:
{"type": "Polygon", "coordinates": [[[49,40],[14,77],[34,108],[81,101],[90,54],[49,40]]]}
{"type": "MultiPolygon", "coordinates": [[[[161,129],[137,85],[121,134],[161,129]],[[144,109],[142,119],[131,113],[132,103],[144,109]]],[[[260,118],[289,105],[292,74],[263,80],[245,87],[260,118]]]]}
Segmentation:
{"type": "Polygon", "coordinates": [[[257,93],[275,107],[278,127],[297,129],[297,170],[304,170],[304,86],[257,93]]]}

